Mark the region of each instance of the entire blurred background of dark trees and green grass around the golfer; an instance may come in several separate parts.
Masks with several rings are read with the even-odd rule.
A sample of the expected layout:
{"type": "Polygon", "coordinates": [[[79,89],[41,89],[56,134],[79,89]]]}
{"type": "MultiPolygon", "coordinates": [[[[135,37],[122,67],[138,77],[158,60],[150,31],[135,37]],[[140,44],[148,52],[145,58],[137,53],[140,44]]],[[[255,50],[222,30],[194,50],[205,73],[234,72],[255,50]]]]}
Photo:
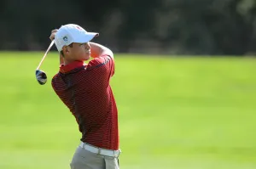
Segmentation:
{"type": "Polygon", "coordinates": [[[121,169],[256,168],[255,0],[1,0],[0,168],[64,169],[81,134],[51,88],[50,31],[115,54],[121,169]]]}

